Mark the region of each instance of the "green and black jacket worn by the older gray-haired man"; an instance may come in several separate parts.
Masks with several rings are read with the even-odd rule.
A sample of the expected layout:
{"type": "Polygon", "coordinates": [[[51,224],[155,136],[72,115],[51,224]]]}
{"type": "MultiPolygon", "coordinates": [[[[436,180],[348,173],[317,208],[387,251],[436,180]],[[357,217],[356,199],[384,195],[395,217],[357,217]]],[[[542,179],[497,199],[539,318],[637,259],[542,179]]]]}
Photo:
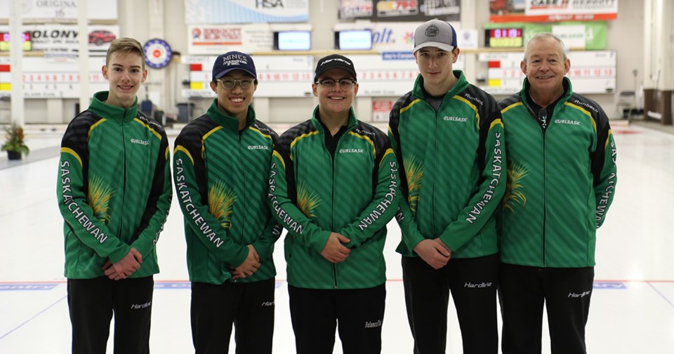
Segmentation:
{"type": "Polygon", "coordinates": [[[503,263],[576,268],[595,265],[595,233],[616,188],[616,143],[609,119],[571,89],[547,129],[522,91],[498,103],[505,124],[508,190],[499,247],[503,263]]]}

